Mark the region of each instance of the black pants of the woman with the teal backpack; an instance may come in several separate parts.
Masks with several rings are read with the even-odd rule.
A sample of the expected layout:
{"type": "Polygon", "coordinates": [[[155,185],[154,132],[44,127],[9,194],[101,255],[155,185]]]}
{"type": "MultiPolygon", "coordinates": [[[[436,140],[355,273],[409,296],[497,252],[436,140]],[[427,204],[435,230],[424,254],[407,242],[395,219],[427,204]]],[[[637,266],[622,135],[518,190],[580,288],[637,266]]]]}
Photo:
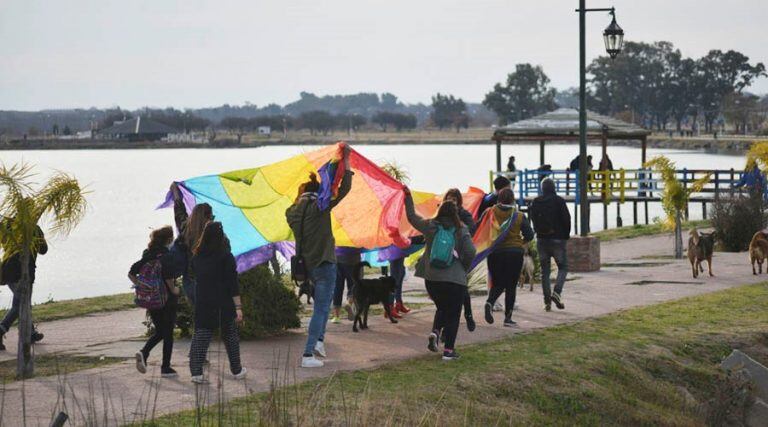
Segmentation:
{"type": "Polygon", "coordinates": [[[456,334],[459,331],[461,305],[467,287],[457,283],[433,282],[431,280],[427,280],[426,283],[427,293],[437,307],[432,322],[432,330],[439,333],[438,331],[442,327],[445,349],[453,350],[456,345],[456,334]]]}

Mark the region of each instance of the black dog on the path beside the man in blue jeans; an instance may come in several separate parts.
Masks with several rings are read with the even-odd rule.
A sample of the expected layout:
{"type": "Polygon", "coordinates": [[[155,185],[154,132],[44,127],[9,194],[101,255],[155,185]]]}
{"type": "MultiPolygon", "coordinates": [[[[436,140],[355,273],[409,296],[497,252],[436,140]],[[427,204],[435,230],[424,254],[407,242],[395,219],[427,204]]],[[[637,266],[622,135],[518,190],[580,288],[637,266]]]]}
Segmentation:
{"type": "Polygon", "coordinates": [[[393,277],[382,276],[378,279],[365,279],[364,268],[370,267],[367,262],[361,262],[355,267],[355,286],[352,288],[352,296],[355,304],[355,320],[352,322],[352,330],[358,332],[360,329],[368,329],[368,309],[373,304],[384,306],[384,316],[392,323],[397,323],[389,313],[392,307],[390,301],[394,300],[395,279],[393,277]]]}

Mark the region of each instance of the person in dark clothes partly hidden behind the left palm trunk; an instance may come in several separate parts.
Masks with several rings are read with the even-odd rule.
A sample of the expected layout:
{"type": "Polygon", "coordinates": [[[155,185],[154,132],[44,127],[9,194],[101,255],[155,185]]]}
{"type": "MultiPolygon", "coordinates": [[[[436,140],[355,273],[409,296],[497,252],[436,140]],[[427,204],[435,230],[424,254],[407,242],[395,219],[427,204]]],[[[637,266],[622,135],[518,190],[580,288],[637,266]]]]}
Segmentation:
{"type": "MultiPolygon", "coordinates": [[[[11,222],[13,221],[12,218],[5,218],[3,220],[3,227],[11,227],[11,222]]],[[[32,294],[32,285],[35,283],[35,271],[37,270],[37,255],[45,255],[48,253],[48,242],[45,241],[45,234],[43,233],[43,230],[37,226],[35,228],[35,246],[37,247],[37,251],[32,252],[31,256],[29,257],[29,264],[27,265],[27,268],[29,269],[29,293],[32,294]]],[[[3,261],[2,266],[2,274],[0,274],[0,277],[2,277],[2,285],[8,286],[8,289],[10,289],[11,293],[13,294],[13,301],[11,302],[11,308],[5,313],[5,316],[3,317],[3,320],[0,321],[0,351],[5,351],[5,344],[3,344],[3,339],[5,338],[5,334],[8,333],[8,331],[11,329],[11,326],[18,320],[19,318],[19,309],[21,306],[21,299],[19,298],[18,294],[16,293],[16,290],[19,286],[19,281],[21,280],[21,253],[16,253],[11,255],[8,259],[3,261]]],[[[32,343],[37,343],[43,340],[44,335],[39,332],[35,325],[32,324],[32,343]]]]}

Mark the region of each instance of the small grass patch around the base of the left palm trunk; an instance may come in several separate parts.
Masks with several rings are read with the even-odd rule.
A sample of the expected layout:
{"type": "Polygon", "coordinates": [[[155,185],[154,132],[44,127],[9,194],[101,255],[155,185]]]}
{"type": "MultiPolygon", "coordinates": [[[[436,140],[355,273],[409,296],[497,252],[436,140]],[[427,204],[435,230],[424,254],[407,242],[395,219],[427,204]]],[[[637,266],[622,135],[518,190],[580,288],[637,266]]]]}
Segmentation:
{"type": "MultiPolygon", "coordinates": [[[[117,357],[43,354],[35,356],[35,377],[66,375],[75,371],[98,368],[124,360],[117,357]]],[[[0,381],[3,383],[16,381],[16,359],[0,362],[0,381]]]]}

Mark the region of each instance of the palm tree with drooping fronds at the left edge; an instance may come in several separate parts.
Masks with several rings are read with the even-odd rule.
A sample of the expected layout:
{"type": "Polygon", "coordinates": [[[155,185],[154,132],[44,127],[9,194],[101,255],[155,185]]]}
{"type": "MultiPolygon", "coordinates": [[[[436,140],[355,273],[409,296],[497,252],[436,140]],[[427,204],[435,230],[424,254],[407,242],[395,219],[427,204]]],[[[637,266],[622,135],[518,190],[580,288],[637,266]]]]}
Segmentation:
{"type": "Polygon", "coordinates": [[[17,285],[19,307],[19,347],[16,374],[34,375],[32,357],[32,292],[29,276],[30,257],[41,243],[38,224],[42,219],[51,234],[69,234],[85,215],[85,192],[73,177],[56,172],[42,186],[33,188],[32,167],[27,164],[7,167],[0,164],[0,249],[2,260],[20,254],[21,280],[17,285]]]}

